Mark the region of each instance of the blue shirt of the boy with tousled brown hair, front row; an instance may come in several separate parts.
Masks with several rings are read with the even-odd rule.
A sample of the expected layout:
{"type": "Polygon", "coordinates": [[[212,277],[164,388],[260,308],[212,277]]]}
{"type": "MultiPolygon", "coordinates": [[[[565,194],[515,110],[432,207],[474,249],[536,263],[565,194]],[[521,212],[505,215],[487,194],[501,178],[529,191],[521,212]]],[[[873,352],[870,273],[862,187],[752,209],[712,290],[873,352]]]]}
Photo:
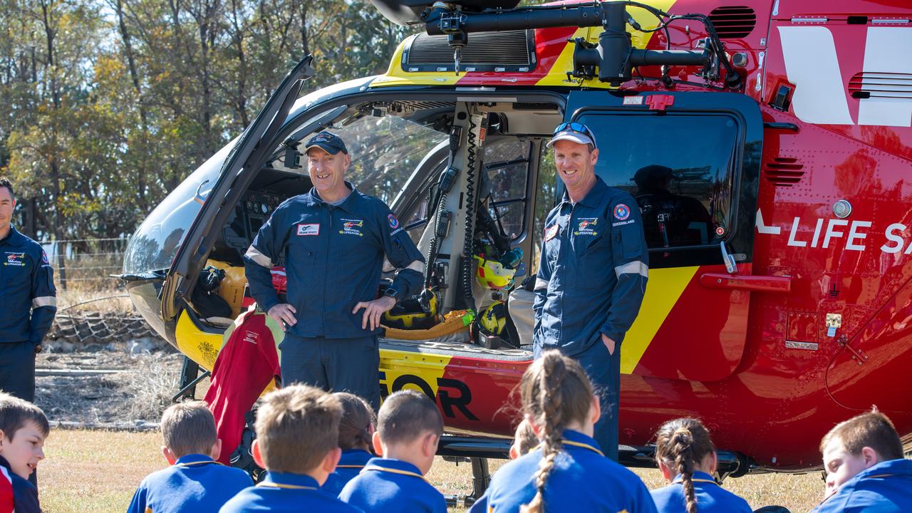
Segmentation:
{"type": "Polygon", "coordinates": [[[313,477],[286,472],[267,472],[262,482],[244,488],[219,509],[220,513],[247,511],[364,513],[321,490],[313,477]]]}

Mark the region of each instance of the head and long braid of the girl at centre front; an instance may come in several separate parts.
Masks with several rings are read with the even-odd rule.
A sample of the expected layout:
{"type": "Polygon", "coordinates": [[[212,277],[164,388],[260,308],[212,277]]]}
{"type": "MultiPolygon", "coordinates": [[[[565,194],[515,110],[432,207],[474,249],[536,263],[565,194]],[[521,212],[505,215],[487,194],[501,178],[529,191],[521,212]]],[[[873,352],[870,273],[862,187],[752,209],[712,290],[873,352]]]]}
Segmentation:
{"type": "Polygon", "coordinates": [[[592,406],[592,382],[586,371],[560,351],[545,351],[523,372],[520,381],[523,414],[538,426],[542,461],[535,474],[537,492],[523,513],[544,511],[544,484],[561,451],[567,425],[585,424],[592,406]]]}

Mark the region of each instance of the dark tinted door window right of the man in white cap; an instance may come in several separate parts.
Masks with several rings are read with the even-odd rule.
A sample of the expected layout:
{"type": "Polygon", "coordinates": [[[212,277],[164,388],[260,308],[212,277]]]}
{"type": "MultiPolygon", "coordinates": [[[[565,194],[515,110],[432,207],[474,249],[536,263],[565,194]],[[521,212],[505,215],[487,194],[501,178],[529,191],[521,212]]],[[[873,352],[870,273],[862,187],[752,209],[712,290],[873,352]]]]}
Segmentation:
{"type": "Polygon", "coordinates": [[[725,238],[733,223],[741,138],[733,117],[586,113],[579,120],[598,139],[596,174],[636,198],[650,248],[705,246],[725,238]]]}

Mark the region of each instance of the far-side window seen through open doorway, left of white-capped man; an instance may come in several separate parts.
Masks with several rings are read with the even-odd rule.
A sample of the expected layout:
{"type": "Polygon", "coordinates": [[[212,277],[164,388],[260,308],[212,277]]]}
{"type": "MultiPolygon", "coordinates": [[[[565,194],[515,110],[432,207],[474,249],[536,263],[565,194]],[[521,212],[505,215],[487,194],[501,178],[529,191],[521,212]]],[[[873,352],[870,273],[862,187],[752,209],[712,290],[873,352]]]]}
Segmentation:
{"type": "Polygon", "coordinates": [[[516,240],[525,232],[526,188],[531,143],[521,139],[487,141],[482,191],[488,211],[504,236],[516,240]]]}

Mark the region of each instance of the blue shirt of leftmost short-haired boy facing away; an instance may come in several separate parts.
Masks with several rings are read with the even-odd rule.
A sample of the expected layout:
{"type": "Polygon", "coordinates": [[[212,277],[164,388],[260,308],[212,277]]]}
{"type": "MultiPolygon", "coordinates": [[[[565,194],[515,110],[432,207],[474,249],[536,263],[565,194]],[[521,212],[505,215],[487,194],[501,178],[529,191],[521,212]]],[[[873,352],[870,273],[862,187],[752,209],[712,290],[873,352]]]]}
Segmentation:
{"type": "Polygon", "coordinates": [[[142,480],[127,513],[218,511],[252,484],[240,468],[223,466],[207,455],[183,455],[142,480]]]}

